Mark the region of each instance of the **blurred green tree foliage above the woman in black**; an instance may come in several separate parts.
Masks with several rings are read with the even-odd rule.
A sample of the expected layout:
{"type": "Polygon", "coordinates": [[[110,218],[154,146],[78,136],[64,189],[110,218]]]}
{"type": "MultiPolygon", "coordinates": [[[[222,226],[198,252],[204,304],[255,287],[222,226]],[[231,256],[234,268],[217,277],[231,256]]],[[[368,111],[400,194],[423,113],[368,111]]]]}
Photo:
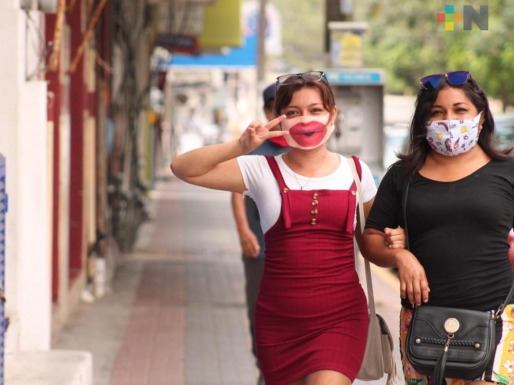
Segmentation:
{"type": "MultiPolygon", "coordinates": [[[[473,0],[453,1],[455,12],[462,13],[473,0]]],[[[476,3],[476,4],[475,4],[476,3]]],[[[508,0],[489,2],[489,30],[463,23],[445,31],[436,14],[443,13],[445,2],[428,0],[402,2],[362,0],[356,20],[366,20],[370,29],[365,39],[365,60],[369,67],[387,72],[387,89],[393,93],[416,93],[419,78],[431,73],[469,70],[486,93],[514,104],[514,7],[508,0]]]]}

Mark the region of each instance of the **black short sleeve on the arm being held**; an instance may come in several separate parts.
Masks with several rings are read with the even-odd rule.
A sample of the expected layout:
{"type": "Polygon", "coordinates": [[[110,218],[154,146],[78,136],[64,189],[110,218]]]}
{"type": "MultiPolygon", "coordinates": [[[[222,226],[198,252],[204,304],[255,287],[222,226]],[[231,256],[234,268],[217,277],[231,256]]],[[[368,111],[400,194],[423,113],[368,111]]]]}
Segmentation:
{"type": "Polygon", "coordinates": [[[401,212],[399,169],[401,167],[393,165],[380,182],[375,202],[366,220],[366,228],[383,231],[386,227],[398,227],[401,212]]]}

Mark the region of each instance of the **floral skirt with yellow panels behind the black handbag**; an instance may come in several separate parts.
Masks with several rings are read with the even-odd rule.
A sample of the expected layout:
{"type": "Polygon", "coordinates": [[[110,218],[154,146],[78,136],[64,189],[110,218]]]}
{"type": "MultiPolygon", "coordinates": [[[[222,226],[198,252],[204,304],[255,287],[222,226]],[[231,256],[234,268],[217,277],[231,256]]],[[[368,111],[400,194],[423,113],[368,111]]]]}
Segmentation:
{"type": "MultiPolygon", "coordinates": [[[[407,331],[412,319],[412,310],[401,308],[400,312],[400,353],[403,375],[407,385],[427,385],[429,378],[414,370],[405,354],[407,331]]],[[[491,362],[485,372],[476,380],[514,385],[514,304],[507,305],[502,314],[502,324],[497,325],[497,341],[499,343],[493,353],[491,362]],[[501,335],[499,336],[499,330],[501,335]]],[[[472,380],[447,378],[447,385],[464,385],[472,380]]]]}

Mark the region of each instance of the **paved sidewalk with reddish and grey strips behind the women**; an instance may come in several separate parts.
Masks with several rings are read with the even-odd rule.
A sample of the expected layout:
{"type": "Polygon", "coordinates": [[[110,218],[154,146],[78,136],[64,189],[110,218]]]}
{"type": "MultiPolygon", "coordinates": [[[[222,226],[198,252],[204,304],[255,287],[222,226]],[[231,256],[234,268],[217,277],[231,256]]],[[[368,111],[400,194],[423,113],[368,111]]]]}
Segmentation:
{"type": "MultiPolygon", "coordinates": [[[[95,385],[254,385],[230,194],[172,178],[152,199],[112,293],[81,304],[53,348],[91,351],[95,385]]],[[[374,278],[397,343],[397,291],[374,278]]]]}

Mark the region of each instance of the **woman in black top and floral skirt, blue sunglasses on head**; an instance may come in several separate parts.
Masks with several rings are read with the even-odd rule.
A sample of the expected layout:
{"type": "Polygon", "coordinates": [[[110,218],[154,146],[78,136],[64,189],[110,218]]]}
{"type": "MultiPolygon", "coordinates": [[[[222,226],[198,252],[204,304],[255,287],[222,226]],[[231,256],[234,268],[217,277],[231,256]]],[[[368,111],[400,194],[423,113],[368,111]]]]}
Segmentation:
{"type": "MultiPolygon", "coordinates": [[[[428,382],[405,355],[413,305],[491,311],[512,285],[507,235],[514,222],[514,159],[510,150],[494,148],[487,97],[467,71],[426,76],[420,84],[407,154],[384,176],[363,237],[367,258],[398,269],[400,350],[409,385],[428,382]],[[386,250],[383,229],[403,226],[402,189],[409,179],[410,251],[386,250]]],[[[508,305],[483,375],[448,384],[514,383],[513,316],[508,305]]]]}

